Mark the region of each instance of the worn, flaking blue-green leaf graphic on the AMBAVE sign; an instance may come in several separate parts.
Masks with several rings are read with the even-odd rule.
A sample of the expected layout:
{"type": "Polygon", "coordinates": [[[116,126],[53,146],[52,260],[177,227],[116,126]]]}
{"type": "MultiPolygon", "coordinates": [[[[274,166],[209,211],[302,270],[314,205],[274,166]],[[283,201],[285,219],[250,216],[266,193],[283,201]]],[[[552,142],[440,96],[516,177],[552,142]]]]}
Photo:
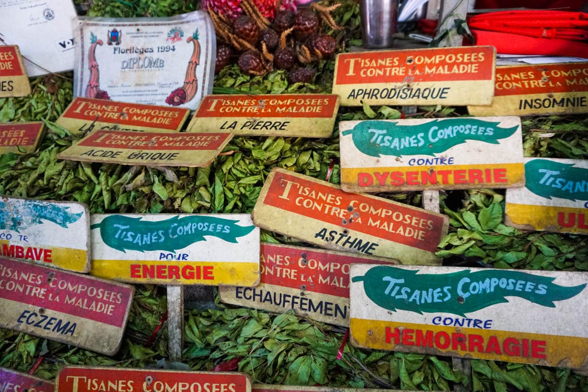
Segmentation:
{"type": "Polygon", "coordinates": [[[0,202],[0,229],[14,230],[19,233],[19,230],[42,225],[43,220],[67,228],[82,216],[81,212],[72,214],[68,210],[69,207],[66,206],[33,200],[15,206],[0,202]]]}

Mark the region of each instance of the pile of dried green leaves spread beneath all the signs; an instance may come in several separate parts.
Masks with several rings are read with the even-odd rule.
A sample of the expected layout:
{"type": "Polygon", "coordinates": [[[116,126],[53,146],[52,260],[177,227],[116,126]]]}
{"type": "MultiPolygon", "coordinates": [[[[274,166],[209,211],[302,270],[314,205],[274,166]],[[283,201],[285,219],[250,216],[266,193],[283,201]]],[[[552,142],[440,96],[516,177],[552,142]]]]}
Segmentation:
{"type": "MultiPolygon", "coordinates": [[[[185,1],[99,0],[76,2],[88,15],[166,16],[191,11],[185,1]]],[[[194,8],[195,9],[195,8],[194,8]]],[[[359,41],[359,6],[345,2],[333,15],[346,26],[341,50],[359,41]]],[[[246,76],[238,67],[225,68],[215,79],[218,93],[328,92],[333,61],[315,66],[315,84],[289,85],[283,71],[246,76]]],[[[48,132],[38,152],[0,156],[0,194],[39,199],[76,200],[92,213],[245,212],[252,210],[272,167],[339,182],[337,126],[329,139],[235,138],[213,164],[204,169],[98,165],[56,159],[72,137],[54,121],[72,99],[72,75],[36,78],[32,95],[0,99],[0,122],[45,120],[48,132]]],[[[431,118],[465,115],[463,108],[423,107],[413,116],[431,118]],[[460,110],[462,110],[460,112],[460,110]]],[[[339,120],[396,119],[399,108],[342,108],[339,120]]],[[[580,116],[549,116],[523,120],[526,156],[588,158],[588,120],[580,116]]],[[[420,205],[420,193],[382,195],[420,205]]],[[[470,190],[442,192],[441,210],[450,216],[450,232],[438,255],[446,264],[498,268],[588,270],[586,237],[523,232],[502,224],[503,192],[470,190]]],[[[262,240],[290,242],[269,232],[262,240]]],[[[64,364],[124,367],[238,369],[256,382],[324,384],[449,390],[453,384],[474,391],[588,391],[588,379],[569,370],[521,364],[472,361],[472,376],[453,371],[447,358],[420,354],[366,351],[345,346],[336,355],[345,331],[326,324],[218,304],[215,310],[186,314],[183,363],[168,363],[165,327],[149,347],[145,343],[166,310],[165,289],[138,286],[121,351],[106,357],[45,339],[0,330],[0,366],[28,371],[40,357],[36,375],[53,378],[64,364]]]]}

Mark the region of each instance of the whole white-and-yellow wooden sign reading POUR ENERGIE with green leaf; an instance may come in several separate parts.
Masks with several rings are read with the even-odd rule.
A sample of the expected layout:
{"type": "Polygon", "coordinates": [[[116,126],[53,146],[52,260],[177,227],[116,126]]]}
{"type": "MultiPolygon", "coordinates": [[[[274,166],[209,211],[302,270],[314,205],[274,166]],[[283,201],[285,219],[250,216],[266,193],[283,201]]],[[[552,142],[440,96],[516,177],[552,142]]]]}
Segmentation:
{"type": "Polygon", "coordinates": [[[129,283],[259,282],[259,229],[246,214],[96,214],[91,229],[94,276],[129,283]]]}

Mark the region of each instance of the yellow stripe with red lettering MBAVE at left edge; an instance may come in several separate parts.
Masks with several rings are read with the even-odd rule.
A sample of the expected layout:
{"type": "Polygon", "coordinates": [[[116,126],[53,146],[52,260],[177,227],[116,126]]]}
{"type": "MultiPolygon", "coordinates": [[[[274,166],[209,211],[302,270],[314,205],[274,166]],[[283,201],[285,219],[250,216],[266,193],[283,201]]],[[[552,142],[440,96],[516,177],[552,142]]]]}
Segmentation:
{"type": "Polygon", "coordinates": [[[2,256],[44,263],[74,272],[86,273],[90,270],[88,252],[83,249],[0,240],[0,253],[2,256]]]}

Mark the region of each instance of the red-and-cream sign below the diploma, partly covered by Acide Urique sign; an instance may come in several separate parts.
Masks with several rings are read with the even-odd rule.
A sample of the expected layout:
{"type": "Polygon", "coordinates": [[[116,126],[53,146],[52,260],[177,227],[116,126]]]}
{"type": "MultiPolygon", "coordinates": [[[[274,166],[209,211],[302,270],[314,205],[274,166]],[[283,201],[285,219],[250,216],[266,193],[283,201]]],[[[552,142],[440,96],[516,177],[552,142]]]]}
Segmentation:
{"type": "Polygon", "coordinates": [[[56,123],[73,135],[94,129],[170,132],[180,130],[189,109],[139,105],[106,99],[74,98],[56,123]]]}

